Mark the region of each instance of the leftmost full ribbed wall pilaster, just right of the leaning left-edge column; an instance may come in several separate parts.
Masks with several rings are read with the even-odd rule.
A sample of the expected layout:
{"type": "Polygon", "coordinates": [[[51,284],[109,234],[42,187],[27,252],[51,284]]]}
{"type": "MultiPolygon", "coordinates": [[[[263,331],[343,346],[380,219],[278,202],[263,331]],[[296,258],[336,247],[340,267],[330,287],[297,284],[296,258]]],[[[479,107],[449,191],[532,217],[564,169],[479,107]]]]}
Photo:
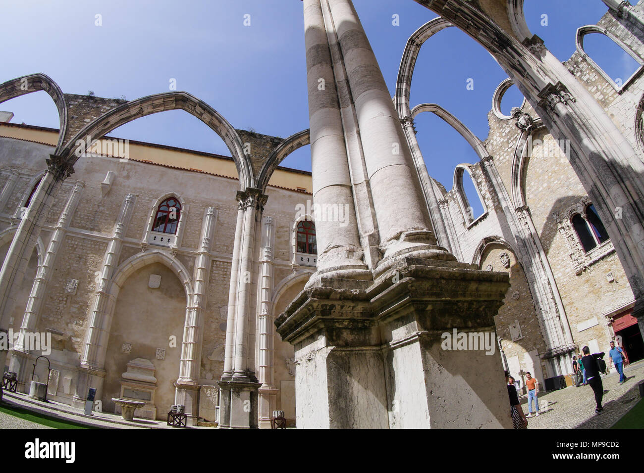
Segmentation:
{"type": "Polygon", "coordinates": [[[70,196],[67,199],[64,209],[62,210],[61,216],[56,223],[56,227],[53,230],[52,238],[50,239],[49,245],[47,246],[47,251],[44,255],[43,266],[39,268],[39,273],[36,275],[33,280],[32,291],[29,294],[27,299],[27,306],[24,310],[23,322],[20,326],[21,338],[19,342],[15,344],[12,351],[12,359],[10,362],[10,371],[15,371],[18,373],[18,380],[21,386],[26,386],[26,381],[28,377],[28,351],[24,348],[24,334],[28,331],[32,331],[37,325],[37,321],[41,315],[44,295],[47,289],[47,284],[50,279],[52,279],[53,268],[55,266],[56,257],[58,256],[62,242],[65,239],[67,234],[67,229],[70,226],[71,218],[78,206],[79,201],[81,200],[81,191],[84,187],[82,181],[76,181],[73,189],[70,192],[70,196]]]}

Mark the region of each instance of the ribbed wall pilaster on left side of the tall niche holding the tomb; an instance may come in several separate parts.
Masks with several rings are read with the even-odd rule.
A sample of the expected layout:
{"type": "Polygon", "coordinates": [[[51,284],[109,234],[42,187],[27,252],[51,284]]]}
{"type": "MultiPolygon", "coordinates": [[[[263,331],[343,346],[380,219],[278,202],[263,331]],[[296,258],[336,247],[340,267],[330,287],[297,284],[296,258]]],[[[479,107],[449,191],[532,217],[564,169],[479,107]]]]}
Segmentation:
{"type": "Polygon", "coordinates": [[[118,259],[123,247],[123,238],[126,234],[129,221],[137,197],[135,194],[128,194],[124,199],[118,218],[114,225],[114,232],[109,241],[108,248],[103,257],[103,264],[100,270],[99,281],[96,286],[96,295],[92,304],[89,317],[85,344],[81,355],[81,369],[90,373],[85,380],[86,385],[79,386],[74,394],[74,403],[85,402],[88,387],[97,388],[97,398],[100,398],[102,378],[104,377],[105,354],[108,349],[109,329],[111,327],[111,316],[113,315],[115,297],[111,294],[112,277],[118,267],[118,259]],[[95,375],[95,373],[100,373],[95,375]]]}

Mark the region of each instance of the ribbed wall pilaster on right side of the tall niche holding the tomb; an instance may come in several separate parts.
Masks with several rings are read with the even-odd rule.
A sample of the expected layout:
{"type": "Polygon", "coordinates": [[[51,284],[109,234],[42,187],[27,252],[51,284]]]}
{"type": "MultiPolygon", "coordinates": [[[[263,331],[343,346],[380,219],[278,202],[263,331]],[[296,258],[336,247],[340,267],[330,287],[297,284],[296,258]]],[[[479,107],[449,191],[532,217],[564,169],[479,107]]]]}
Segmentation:
{"type": "Polygon", "coordinates": [[[192,303],[185,310],[179,378],[175,383],[175,402],[185,405],[191,425],[199,418],[199,373],[204,338],[204,309],[208,291],[210,251],[213,243],[216,210],[208,207],[202,220],[201,243],[194,264],[192,303]]]}

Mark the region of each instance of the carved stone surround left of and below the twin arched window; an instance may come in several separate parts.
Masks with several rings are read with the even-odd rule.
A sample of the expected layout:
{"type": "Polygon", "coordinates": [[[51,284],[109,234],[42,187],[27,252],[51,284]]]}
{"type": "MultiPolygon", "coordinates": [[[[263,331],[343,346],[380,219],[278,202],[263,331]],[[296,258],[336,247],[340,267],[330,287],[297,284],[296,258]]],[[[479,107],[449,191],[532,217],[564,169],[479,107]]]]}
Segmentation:
{"type": "Polygon", "coordinates": [[[591,200],[586,196],[578,203],[571,205],[565,210],[560,212],[553,212],[553,218],[556,220],[557,229],[559,234],[564,238],[566,245],[570,250],[571,264],[573,265],[574,273],[576,275],[582,274],[587,270],[591,264],[600,261],[600,259],[615,252],[615,247],[612,245],[611,240],[605,241],[601,245],[597,245],[589,252],[583,250],[582,243],[579,241],[576,232],[574,231],[571,219],[574,214],[584,214],[586,207],[591,205],[591,200]]]}

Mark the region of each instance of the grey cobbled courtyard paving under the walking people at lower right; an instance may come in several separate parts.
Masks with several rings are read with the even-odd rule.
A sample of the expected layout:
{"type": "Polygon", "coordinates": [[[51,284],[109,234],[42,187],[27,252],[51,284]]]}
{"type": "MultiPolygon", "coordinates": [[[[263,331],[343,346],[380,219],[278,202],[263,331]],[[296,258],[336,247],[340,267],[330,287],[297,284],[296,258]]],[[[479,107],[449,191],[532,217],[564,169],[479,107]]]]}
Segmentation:
{"type": "MultiPolygon", "coordinates": [[[[604,387],[603,412],[595,414],[595,401],[589,385],[567,387],[538,396],[540,415],[528,419],[528,429],[608,429],[633,407],[639,397],[638,384],[644,380],[644,360],[627,366],[627,381],[619,383],[615,368],[601,376],[604,387]]],[[[521,398],[527,415],[527,398],[521,398]]],[[[534,407],[533,407],[534,409],[534,407]]]]}

